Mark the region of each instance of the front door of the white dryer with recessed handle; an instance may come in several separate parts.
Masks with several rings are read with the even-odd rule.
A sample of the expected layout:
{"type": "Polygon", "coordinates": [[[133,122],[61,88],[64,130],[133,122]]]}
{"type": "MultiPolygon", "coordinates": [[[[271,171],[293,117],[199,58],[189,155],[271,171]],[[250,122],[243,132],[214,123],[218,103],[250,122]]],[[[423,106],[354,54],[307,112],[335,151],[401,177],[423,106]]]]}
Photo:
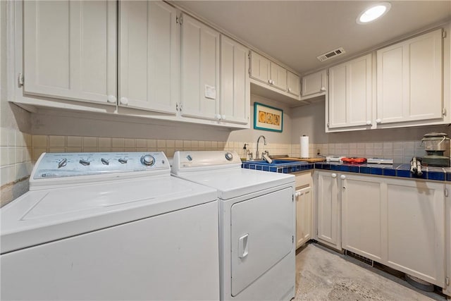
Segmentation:
{"type": "Polygon", "coordinates": [[[230,233],[234,297],[294,247],[294,204],[292,188],[233,204],[230,233]]]}

